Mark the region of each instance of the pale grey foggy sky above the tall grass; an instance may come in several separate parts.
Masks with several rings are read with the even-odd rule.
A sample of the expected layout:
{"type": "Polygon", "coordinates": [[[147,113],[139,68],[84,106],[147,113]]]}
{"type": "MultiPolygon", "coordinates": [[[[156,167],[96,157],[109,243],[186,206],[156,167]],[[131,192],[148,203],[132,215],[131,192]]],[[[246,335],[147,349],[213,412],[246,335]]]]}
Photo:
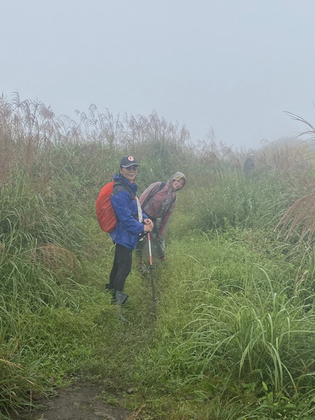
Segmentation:
{"type": "Polygon", "coordinates": [[[0,93],[213,127],[258,147],[315,124],[315,0],[1,0],[0,93]]]}

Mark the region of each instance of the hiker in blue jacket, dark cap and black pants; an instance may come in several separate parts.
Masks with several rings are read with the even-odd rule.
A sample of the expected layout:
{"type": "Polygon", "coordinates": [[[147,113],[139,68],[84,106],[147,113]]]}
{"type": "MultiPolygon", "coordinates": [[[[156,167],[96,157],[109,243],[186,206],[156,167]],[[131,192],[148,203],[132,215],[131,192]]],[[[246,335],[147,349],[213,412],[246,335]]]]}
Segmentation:
{"type": "MultiPolygon", "coordinates": [[[[106,288],[113,290],[113,299],[119,306],[128,297],[123,293],[123,288],[132,269],[132,251],[138,244],[139,235],[153,229],[153,222],[141,210],[136,196],[138,186],[134,179],[139,166],[133,156],[124,156],[120,161],[119,174],[113,177],[115,183],[111,204],[116,213],[117,224],[110,235],[115,244],[115,257],[106,288]]],[[[127,322],[123,316],[121,318],[127,322]]]]}

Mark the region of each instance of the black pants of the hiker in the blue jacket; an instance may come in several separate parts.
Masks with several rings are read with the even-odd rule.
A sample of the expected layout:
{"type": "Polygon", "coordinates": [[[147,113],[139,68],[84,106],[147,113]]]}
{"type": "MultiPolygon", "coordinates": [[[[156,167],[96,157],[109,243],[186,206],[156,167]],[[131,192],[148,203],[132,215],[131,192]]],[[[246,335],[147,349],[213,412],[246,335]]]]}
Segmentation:
{"type": "Polygon", "coordinates": [[[132,249],[116,244],[113,268],[111,269],[111,274],[109,274],[109,286],[106,286],[106,288],[122,292],[131,269],[132,249]]]}

